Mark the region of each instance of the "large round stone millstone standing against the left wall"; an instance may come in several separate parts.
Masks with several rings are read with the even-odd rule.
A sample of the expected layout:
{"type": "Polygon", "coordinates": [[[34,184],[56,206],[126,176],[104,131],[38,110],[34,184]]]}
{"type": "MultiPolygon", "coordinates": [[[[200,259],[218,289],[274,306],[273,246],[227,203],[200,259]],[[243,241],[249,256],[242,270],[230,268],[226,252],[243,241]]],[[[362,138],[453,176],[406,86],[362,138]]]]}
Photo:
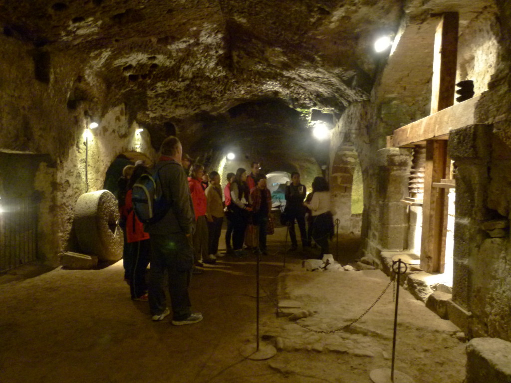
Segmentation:
{"type": "Polygon", "coordinates": [[[103,261],[123,256],[123,231],[117,224],[117,199],[108,190],[82,194],[76,202],[74,225],[81,250],[103,261]]]}

